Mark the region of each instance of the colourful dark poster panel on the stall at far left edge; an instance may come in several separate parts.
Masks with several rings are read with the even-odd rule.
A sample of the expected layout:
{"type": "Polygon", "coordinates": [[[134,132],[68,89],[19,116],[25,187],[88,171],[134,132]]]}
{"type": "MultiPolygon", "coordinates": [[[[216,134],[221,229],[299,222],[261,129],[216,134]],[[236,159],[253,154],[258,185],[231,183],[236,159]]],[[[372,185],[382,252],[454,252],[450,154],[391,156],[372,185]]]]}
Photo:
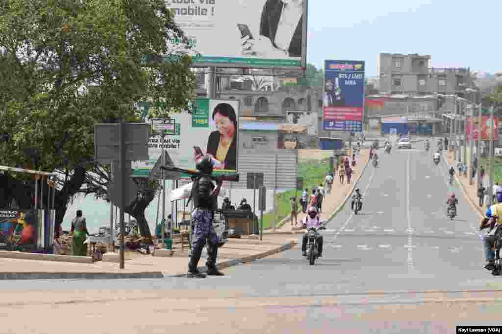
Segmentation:
{"type": "Polygon", "coordinates": [[[37,248],[36,210],[0,209],[0,249],[37,248]]]}

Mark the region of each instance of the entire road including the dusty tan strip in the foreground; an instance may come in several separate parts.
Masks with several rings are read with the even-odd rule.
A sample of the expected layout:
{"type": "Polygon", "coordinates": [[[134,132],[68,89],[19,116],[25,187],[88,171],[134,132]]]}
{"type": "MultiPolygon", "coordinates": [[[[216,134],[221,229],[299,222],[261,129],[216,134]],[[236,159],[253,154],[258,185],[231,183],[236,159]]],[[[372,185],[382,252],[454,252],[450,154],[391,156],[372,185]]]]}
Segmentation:
{"type": "Polygon", "coordinates": [[[3,281],[0,316],[5,323],[24,323],[27,313],[53,317],[53,307],[59,307],[56,329],[52,322],[35,320],[38,324],[31,327],[5,329],[63,332],[74,314],[90,320],[75,333],[124,334],[139,328],[164,332],[167,327],[222,333],[328,328],[454,332],[455,324],[497,318],[499,305],[493,303],[428,304],[427,294],[413,292],[447,290],[447,296],[459,298],[466,296],[460,290],[498,289],[502,284],[482,268],[482,243],[475,228],[479,217],[460,189],[447,184],[447,166],[435,166],[421,143],[411,150],[394,149],[391,155],[379,151],[380,167],[368,166],[358,184],[364,194],[362,211],[353,215],[347,206],[328,223],[324,256],[314,266],[294,249],[227,268],[225,277],[3,281]],[[450,221],[444,202],[452,191],[460,204],[458,217],[450,221]],[[7,291],[13,289],[45,291],[7,291]],[[375,297],[375,291],[398,293],[375,297]],[[133,309],[134,317],[113,320],[133,309]]]}

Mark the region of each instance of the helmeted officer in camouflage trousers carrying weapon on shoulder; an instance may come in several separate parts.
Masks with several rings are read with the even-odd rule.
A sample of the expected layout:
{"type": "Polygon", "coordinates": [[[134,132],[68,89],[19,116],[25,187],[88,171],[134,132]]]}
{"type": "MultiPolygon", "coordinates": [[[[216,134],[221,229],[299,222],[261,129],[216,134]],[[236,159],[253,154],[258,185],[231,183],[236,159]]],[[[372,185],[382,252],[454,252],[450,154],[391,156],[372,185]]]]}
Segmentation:
{"type": "Polygon", "coordinates": [[[188,264],[189,277],[205,277],[197,269],[202,248],[207,239],[207,274],[213,276],[223,276],[223,273],[216,268],[216,256],[218,254],[218,236],[213,230],[214,211],[217,208],[216,198],[218,196],[221,182],[215,186],[211,180],[213,165],[209,157],[203,158],[196,165],[197,170],[202,174],[198,176],[192,187],[192,200],[194,211],[192,212],[193,232],[192,254],[188,264]]]}

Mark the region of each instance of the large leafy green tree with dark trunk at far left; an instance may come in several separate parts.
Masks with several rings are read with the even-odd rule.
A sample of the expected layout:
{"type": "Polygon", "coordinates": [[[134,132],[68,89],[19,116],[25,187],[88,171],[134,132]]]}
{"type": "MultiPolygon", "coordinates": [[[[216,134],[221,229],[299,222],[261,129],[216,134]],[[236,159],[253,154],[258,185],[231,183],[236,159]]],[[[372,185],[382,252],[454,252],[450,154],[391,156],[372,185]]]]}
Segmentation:
{"type": "MultiPolygon", "coordinates": [[[[9,134],[0,165],[58,172],[56,228],[75,195],[105,195],[108,167],[94,162],[95,123],[138,121],[135,103],[147,98],[171,112],[193,100],[189,47],[164,0],[0,2],[0,134],[9,134]],[[146,67],[143,55],[175,61],[146,67]]],[[[157,188],[144,185],[126,211],[146,236],[144,211],[157,188]]],[[[14,199],[31,208],[34,194],[30,175],[0,175],[0,207],[14,199]]]]}

